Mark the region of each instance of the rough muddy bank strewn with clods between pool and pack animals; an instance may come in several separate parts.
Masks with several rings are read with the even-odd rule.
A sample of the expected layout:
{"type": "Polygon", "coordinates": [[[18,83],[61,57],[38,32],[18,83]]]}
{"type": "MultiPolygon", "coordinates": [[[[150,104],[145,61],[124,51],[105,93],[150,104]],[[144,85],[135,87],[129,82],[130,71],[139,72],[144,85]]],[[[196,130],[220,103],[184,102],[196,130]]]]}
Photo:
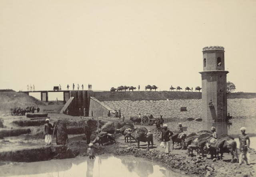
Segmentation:
{"type": "MultiPolygon", "coordinates": [[[[73,153],[82,156],[87,155],[87,145],[80,141],[71,142],[69,144],[69,147],[72,149],[73,153]],[[81,147],[82,149],[80,149],[79,147],[81,147]]],[[[173,150],[170,154],[167,155],[163,151],[155,149],[138,149],[136,145],[130,143],[116,143],[113,145],[95,147],[96,155],[132,155],[134,157],[140,157],[150,161],[154,161],[156,163],[160,163],[169,169],[180,170],[181,173],[193,176],[252,177],[255,175],[255,171],[252,166],[246,164],[242,164],[241,166],[239,166],[238,163],[229,163],[222,160],[214,162],[211,159],[208,159],[206,157],[202,158],[201,156],[188,157],[186,155],[180,155],[179,153],[176,153],[176,150],[173,150]],[[220,168],[222,168],[222,170],[220,170],[220,168]]],[[[251,155],[255,155],[256,151],[250,149],[250,153],[251,155]]]]}

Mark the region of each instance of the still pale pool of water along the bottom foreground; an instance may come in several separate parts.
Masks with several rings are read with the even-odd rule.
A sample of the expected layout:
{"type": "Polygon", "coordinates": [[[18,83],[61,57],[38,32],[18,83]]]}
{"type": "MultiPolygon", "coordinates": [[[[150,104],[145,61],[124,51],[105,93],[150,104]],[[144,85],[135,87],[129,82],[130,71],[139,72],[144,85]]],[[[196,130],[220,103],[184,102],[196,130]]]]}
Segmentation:
{"type": "Polygon", "coordinates": [[[137,157],[76,157],[0,166],[0,176],[11,177],[186,177],[151,161],[137,157]]]}

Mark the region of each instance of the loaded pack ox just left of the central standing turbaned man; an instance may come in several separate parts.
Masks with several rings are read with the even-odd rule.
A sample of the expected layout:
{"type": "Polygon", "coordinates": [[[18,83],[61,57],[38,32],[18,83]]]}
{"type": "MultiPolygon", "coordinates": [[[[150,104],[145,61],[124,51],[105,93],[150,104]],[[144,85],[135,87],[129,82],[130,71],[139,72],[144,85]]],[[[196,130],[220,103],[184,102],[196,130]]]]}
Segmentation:
{"type": "Polygon", "coordinates": [[[138,148],[140,147],[140,141],[148,142],[148,148],[151,142],[151,145],[153,147],[153,133],[149,132],[148,129],[146,129],[145,127],[138,127],[135,130],[134,137],[137,141],[138,148]]]}

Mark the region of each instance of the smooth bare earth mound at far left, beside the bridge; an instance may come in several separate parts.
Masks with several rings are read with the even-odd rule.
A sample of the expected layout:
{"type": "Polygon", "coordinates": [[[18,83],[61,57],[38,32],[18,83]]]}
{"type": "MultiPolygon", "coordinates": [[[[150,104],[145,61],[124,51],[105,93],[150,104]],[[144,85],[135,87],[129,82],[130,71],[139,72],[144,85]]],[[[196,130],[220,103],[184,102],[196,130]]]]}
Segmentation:
{"type": "Polygon", "coordinates": [[[40,101],[26,93],[16,91],[0,91],[0,113],[10,113],[10,109],[15,107],[26,108],[28,106],[42,106],[46,105],[43,101],[40,101]]]}

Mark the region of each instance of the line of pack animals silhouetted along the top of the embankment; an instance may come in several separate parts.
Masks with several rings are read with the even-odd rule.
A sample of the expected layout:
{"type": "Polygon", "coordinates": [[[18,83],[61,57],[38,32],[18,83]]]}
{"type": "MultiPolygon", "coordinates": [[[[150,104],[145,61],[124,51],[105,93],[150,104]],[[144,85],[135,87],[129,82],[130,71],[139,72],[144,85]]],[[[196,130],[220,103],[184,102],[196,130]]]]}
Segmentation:
{"type": "MultiPolygon", "coordinates": [[[[113,92],[115,92],[115,91],[130,91],[130,90],[135,90],[136,89],[136,87],[134,87],[134,86],[119,86],[119,87],[117,87],[117,88],[114,88],[114,87],[112,87],[111,89],[110,89],[110,92],[111,93],[113,93],[113,92]]],[[[153,85],[153,86],[151,86],[151,85],[147,85],[147,86],[145,86],[145,91],[148,91],[148,90],[150,90],[150,91],[152,91],[152,90],[155,90],[156,91],[156,89],[158,89],[158,87],[157,86],[155,86],[155,85],[153,85]]],[[[177,86],[176,88],[174,88],[173,86],[171,86],[170,87],[170,89],[169,89],[169,91],[174,91],[176,89],[176,91],[180,91],[180,90],[182,90],[182,88],[180,87],[180,86],[177,86]]],[[[195,88],[195,92],[196,91],[199,91],[200,92],[200,90],[201,90],[202,88],[200,88],[199,86],[197,86],[196,88],[195,88]]],[[[138,89],[138,91],[139,91],[139,89],[138,89]]],[[[185,88],[185,91],[193,91],[193,87],[191,87],[191,88],[189,88],[189,87],[186,87],[185,88]]]]}

